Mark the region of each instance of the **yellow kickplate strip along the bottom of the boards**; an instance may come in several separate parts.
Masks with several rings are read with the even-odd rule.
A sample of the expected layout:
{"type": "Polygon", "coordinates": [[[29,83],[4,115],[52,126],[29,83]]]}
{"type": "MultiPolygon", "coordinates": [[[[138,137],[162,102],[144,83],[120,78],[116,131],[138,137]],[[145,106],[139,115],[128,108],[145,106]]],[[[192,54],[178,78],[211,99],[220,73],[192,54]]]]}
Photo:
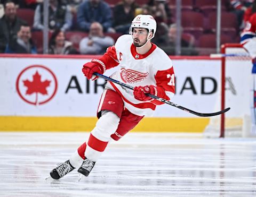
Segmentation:
{"type": "MultiPolygon", "coordinates": [[[[0,116],[0,131],[91,131],[96,117],[0,116]]],[[[203,132],[209,118],[143,118],[133,131],[203,132]]]]}

